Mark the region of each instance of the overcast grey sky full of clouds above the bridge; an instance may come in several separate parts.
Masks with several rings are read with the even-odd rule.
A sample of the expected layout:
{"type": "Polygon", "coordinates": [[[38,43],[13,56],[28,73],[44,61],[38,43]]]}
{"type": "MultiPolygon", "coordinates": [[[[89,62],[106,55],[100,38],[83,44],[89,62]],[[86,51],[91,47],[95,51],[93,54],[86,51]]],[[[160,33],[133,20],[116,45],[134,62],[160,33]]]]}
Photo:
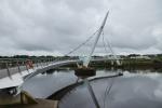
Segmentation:
{"type": "MultiPolygon", "coordinates": [[[[66,54],[97,30],[108,10],[104,36],[117,54],[162,53],[161,5],[162,0],[0,0],[0,55],[66,54]]],[[[76,54],[90,51],[92,42],[76,54]]],[[[102,53],[99,41],[95,54],[102,53]]]]}

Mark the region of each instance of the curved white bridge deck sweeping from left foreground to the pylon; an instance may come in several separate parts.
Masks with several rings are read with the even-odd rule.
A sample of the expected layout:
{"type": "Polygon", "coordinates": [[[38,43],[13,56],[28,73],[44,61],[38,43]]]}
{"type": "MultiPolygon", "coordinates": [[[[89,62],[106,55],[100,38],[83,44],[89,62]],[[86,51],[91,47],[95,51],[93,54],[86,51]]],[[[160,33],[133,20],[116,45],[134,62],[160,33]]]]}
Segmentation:
{"type": "Polygon", "coordinates": [[[59,66],[69,65],[69,64],[77,64],[79,59],[67,59],[60,62],[51,62],[46,63],[42,66],[38,66],[35,64],[33,68],[27,69],[24,66],[21,66],[23,70],[18,72],[17,67],[11,68],[10,71],[12,75],[8,75],[8,69],[0,70],[0,89],[8,89],[8,87],[15,87],[21,86],[25,81],[29,80],[30,78],[37,76],[38,73],[45,72],[50,69],[57,68],[59,66]]]}

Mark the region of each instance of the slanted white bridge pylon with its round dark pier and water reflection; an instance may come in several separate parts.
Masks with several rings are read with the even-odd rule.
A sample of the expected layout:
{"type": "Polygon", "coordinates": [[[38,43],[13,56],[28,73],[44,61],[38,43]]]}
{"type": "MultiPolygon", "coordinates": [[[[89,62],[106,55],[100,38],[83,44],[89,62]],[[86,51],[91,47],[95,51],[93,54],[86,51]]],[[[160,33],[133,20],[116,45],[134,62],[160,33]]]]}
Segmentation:
{"type": "Polygon", "coordinates": [[[103,32],[103,29],[104,29],[104,27],[105,27],[105,24],[106,24],[108,14],[109,14],[109,11],[106,13],[106,16],[105,16],[105,18],[104,18],[104,21],[103,21],[103,23],[102,23],[102,26],[100,26],[99,29],[98,29],[98,32],[97,32],[95,42],[94,42],[94,44],[93,44],[93,46],[92,46],[92,49],[91,49],[90,54],[83,59],[83,65],[82,65],[82,66],[79,66],[79,65],[78,65],[79,68],[75,70],[76,76],[78,76],[79,78],[83,79],[83,82],[84,82],[84,84],[86,85],[86,87],[87,87],[87,90],[89,90],[89,92],[90,92],[90,95],[91,95],[91,97],[92,97],[92,100],[93,100],[93,103],[95,104],[95,107],[96,107],[96,108],[100,108],[100,106],[99,106],[98,100],[97,100],[97,98],[96,98],[96,96],[95,96],[95,93],[94,93],[94,91],[93,91],[93,87],[91,86],[91,84],[90,84],[90,82],[89,82],[89,80],[87,80],[87,77],[94,76],[94,75],[96,73],[96,70],[94,70],[94,69],[92,69],[92,68],[89,68],[89,64],[90,64],[90,60],[91,60],[91,58],[92,58],[92,54],[94,53],[95,48],[96,48],[96,45],[97,45],[97,42],[98,42],[98,40],[99,40],[99,37],[100,37],[102,32],[103,32]]]}

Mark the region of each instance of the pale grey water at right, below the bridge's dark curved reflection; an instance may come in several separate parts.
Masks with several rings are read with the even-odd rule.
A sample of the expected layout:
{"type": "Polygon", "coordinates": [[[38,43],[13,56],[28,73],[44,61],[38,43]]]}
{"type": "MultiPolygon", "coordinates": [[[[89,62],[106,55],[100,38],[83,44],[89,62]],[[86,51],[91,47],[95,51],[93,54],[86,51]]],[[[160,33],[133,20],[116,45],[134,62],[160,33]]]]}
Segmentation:
{"type": "MultiPolygon", "coordinates": [[[[108,71],[107,71],[108,72],[108,71]]],[[[130,73],[120,78],[92,81],[102,108],[162,108],[162,75],[157,72],[130,73]],[[114,80],[110,93],[106,89],[114,80]]],[[[59,103],[59,108],[95,108],[84,85],[78,86],[59,103]]]]}

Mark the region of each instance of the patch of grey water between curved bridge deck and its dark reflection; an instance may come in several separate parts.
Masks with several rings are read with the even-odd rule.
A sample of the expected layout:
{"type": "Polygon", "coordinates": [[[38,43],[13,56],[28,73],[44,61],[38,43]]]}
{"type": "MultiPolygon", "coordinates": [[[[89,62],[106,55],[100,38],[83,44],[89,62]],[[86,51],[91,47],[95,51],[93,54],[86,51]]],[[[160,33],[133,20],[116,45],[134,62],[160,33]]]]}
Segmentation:
{"type": "Polygon", "coordinates": [[[51,73],[38,75],[23,85],[23,90],[37,98],[46,98],[56,91],[76,82],[73,71],[54,71],[51,73]]]}

